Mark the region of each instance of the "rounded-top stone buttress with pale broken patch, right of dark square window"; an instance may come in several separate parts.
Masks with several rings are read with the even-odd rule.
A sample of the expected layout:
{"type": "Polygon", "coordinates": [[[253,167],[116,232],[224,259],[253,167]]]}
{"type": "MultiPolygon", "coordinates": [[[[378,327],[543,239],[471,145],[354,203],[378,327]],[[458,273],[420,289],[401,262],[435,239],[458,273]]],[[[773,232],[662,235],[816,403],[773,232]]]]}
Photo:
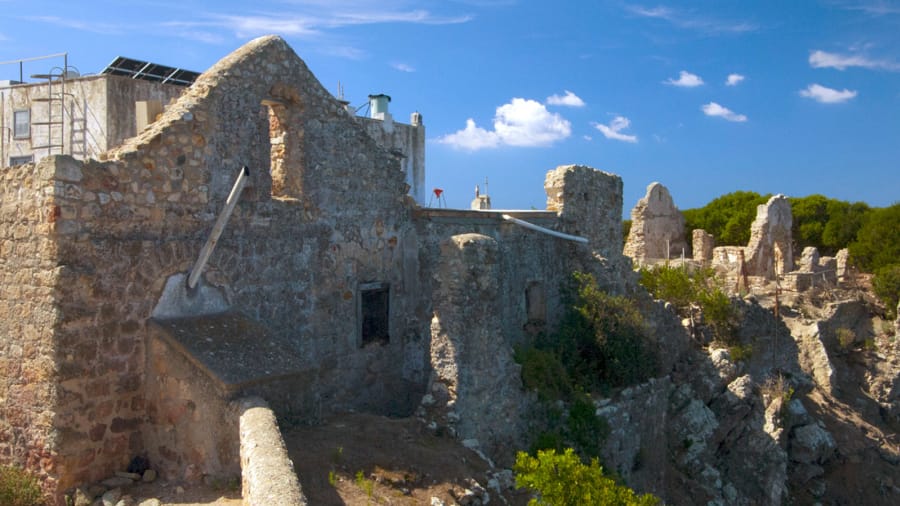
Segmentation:
{"type": "Polygon", "coordinates": [[[479,234],[441,243],[431,321],[432,392],[460,439],[508,460],[524,444],[527,403],[500,320],[499,248],[479,234]]]}

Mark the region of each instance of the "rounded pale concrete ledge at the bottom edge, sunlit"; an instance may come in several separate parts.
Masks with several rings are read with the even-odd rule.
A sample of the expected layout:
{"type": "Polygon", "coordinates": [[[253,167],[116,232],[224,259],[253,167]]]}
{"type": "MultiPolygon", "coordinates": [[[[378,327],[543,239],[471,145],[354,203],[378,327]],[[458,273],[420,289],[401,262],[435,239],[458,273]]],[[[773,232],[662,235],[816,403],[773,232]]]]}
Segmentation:
{"type": "Polygon", "coordinates": [[[259,397],[237,401],[241,437],[241,492],[247,506],[305,506],[294,464],[275,414],[259,397]]]}

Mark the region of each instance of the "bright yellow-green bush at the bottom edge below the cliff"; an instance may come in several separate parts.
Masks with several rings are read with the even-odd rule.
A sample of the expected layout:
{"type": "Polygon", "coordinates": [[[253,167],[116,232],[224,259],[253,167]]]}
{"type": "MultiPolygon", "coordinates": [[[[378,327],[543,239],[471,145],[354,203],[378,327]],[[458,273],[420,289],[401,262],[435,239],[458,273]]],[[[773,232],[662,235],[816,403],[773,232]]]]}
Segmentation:
{"type": "Polygon", "coordinates": [[[604,476],[597,459],[592,459],[590,464],[582,463],[571,448],[561,454],[555,450],[539,451],[537,457],[519,452],[513,470],[516,487],[538,494],[529,505],[652,506],[660,503],[651,494],[637,495],[604,476]]]}

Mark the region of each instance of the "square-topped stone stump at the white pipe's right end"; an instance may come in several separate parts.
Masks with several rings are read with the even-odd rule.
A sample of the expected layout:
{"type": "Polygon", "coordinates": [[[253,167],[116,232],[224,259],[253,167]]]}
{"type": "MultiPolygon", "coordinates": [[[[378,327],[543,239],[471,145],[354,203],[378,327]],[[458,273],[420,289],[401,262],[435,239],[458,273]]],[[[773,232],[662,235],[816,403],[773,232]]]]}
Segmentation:
{"type": "Polygon", "coordinates": [[[606,258],[621,256],[622,178],[583,165],[562,165],[544,179],[547,210],[562,232],[588,239],[606,258]]]}

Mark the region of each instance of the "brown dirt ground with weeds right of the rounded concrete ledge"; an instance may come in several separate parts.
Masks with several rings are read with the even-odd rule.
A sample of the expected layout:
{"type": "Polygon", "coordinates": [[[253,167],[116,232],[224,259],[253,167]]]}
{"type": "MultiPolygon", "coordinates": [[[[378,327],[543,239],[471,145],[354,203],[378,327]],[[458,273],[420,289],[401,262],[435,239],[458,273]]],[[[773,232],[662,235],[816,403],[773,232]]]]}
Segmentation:
{"type": "Polygon", "coordinates": [[[316,427],[284,434],[309,504],[430,505],[474,487],[487,489],[491,504],[527,504],[529,496],[488,487],[489,465],[450,437],[439,437],[414,418],[343,415],[316,427]]]}

